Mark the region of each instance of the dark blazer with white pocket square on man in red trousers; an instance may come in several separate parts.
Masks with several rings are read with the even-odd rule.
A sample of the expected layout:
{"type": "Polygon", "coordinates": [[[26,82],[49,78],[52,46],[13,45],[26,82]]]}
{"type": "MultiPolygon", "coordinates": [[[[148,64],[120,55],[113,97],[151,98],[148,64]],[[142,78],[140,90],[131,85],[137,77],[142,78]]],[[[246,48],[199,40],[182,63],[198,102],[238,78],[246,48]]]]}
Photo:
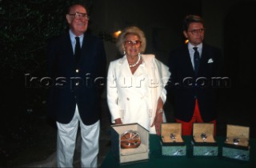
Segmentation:
{"type": "Polygon", "coordinates": [[[174,117],[189,122],[194,114],[195,97],[204,122],[217,118],[216,89],[221,69],[221,50],[210,45],[202,45],[198,76],[190,61],[187,45],[182,45],[170,53],[170,80],[168,88],[174,96],[174,117]],[[212,83],[213,82],[213,83],[212,83]]]}

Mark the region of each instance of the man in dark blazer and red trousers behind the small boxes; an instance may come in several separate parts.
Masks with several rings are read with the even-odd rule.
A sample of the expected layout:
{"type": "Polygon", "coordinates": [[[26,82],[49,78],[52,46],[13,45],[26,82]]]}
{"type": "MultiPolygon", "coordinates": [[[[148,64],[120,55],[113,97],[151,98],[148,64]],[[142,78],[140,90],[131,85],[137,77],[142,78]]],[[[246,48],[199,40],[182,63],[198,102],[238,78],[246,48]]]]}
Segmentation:
{"type": "Polygon", "coordinates": [[[221,68],[221,50],[203,43],[202,18],[188,15],[183,21],[186,45],[170,53],[170,95],[174,96],[174,118],[182,123],[182,135],[191,135],[193,123],[214,123],[216,135],[216,88],[221,68]]]}

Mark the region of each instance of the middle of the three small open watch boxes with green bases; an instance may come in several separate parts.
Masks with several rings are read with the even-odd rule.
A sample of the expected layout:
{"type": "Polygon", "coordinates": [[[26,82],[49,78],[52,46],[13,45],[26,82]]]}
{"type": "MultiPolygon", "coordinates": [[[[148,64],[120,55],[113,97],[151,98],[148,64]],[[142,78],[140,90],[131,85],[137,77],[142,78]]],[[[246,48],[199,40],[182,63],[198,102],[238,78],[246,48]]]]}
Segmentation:
{"type": "Polygon", "coordinates": [[[194,156],[217,156],[218,143],[214,139],[214,123],[194,123],[191,144],[194,156]]]}

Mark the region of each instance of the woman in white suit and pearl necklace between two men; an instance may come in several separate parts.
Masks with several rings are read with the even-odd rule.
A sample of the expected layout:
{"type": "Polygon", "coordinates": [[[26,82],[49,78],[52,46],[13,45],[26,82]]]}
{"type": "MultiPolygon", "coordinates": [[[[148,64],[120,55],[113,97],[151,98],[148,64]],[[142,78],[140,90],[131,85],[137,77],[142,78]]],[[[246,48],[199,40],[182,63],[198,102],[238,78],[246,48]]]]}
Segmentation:
{"type": "Polygon", "coordinates": [[[107,103],[113,123],[139,123],[150,134],[160,135],[166,122],[163,104],[170,72],[152,54],[142,54],[146,37],[141,29],[123,29],[117,41],[123,57],[110,62],[107,80],[107,103]]]}

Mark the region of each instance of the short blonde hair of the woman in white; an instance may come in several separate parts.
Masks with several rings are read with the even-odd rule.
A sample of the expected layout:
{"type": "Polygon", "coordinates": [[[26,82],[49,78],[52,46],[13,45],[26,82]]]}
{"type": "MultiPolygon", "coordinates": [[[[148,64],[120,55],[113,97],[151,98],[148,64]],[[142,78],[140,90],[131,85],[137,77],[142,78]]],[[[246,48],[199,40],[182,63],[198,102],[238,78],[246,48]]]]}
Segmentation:
{"type": "Polygon", "coordinates": [[[122,33],[118,36],[118,41],[116,43],[119,52],[123,53],[122,45],[126,41],[126,36],[128,34],[134,34],[138,36],[139,40],[142,41],[140,53],[145,53],[146,50],[146,37],[142,29],[139,29],[137,26],[129,26],[122,30],[122,33]]]}

